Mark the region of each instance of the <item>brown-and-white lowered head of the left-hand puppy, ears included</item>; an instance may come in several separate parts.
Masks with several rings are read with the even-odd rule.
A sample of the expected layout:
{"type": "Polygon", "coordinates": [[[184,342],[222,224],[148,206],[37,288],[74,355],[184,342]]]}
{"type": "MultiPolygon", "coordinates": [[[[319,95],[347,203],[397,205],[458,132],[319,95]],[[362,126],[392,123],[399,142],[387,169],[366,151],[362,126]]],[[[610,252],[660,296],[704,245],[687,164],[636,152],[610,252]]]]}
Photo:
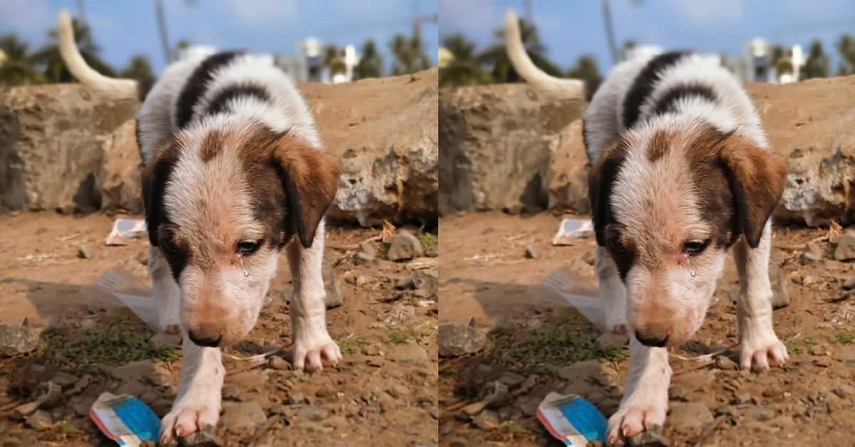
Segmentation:
{"type": "Polygon", "coordinates": [[[145,220],[180,288],[192,341],[235,343],[256,323],[280,249],[310,247],[338,164],[259,124],[178,134],[144,166],[145,220]]]}

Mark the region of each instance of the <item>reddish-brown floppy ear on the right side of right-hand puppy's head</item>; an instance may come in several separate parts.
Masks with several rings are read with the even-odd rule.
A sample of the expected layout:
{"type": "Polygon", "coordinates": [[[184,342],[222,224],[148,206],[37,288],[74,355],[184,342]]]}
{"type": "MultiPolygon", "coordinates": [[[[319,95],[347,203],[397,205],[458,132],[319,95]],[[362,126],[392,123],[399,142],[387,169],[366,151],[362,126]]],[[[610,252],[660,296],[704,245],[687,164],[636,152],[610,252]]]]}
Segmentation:
{"type": "Polygon", "coordinates": [[[736,211],[746,241],[756,248],[787,180],[787,166],[764,148],[737,134],[722,140],[719,158],[727,168],[736,211]]]}

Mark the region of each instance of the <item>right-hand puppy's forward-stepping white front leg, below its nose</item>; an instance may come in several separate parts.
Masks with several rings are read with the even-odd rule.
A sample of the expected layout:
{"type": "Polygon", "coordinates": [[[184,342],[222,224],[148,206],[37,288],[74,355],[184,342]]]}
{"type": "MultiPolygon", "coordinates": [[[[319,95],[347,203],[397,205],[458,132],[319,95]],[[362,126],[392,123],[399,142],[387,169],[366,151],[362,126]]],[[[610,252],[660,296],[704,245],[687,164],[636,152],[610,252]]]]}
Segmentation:
{"type": "Polygon", "coordinates": [[[621,407],[609,418],[608,444],[624,444],[627,438],[663,426],[670,382],[668,349],[648,348],[630,334],[627,388],[621,407]]]}

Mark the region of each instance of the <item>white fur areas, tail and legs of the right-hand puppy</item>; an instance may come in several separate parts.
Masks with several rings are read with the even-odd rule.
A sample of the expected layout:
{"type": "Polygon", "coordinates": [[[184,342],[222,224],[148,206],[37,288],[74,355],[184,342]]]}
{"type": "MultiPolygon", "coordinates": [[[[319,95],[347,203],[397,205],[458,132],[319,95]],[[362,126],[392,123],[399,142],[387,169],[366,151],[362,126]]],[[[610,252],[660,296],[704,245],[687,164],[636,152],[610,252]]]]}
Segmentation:
{"type": "MultiPolygon", "coordinates": [[[[519,42],[516,15],[505,17],[505,35],[510,59],[517,72],[545,92],[581,97],[573,81],[557,80],[540,72],[524,54],[519,42]],[[565,88],[568,87],[569,88],[565,88]]],[[[612,331],[628,331],[630,367],[628,384],[620,408],[609,420],[608,441],[619,444],[653,426],[662,426],[668,409],[671,368],[664,347],[648,347],[636,337],[640,325],[658,319],[667,327],[669,345],[683,343],[697,331],[721,276],[725,250],[708,248],[698,255],[663,257],[673,240],[709,239],[710,225],[699,217],[699,202],[705,198],[693,186],[694,172],[687,159],[692,142],[712,126],[722,134],[734,134],[760,152],[769,143],[751,99],[739,82],[716,62],[696,56],[681,58],[659,72],[652,91],[641,103],[640,116],[633,126],[623,122],[624,102],[634,80],[652,57],[618,64],[599,87],[585,116],[585,139],[592,164],[603,158],[619,141],[626,149],[620,170],[612,184],[610,204],[617,222],[626,224],[621,240],[637,245],[650,258],[647,265],[635,262],[625,280],[618,274],[610,249],[598,246],[596,268],[599,289],[612,331]],[[673,110],[654,113],[657,102],[672,87],[701,84],[716,96],[688,95],[675,101],[673,110]],[[669,135],[669,151],[651,160],[652,139],[669,135]],[[654,205],[655,204],[655,205],[654,205]],[[670,232],[669,232],[670,231],[670,232]],[[678,239],[681,238],[681,239],[678,239]],[[664,265],[664,266],[663,266],[664,265]],[[659,307],[650,311],[651,299],[659,307]]],[[[578,81],[576,81],[578,82],[578,81]]],[[[764,156],[768,157],[768,155],[764,156]]],[[[787,349],[778,340],[772,325],[769,285],[770,219],[763,226],[757,247],[746,237],[734,246],[740,277],[736,304],[740,331],[740,366],[763,371],[769,365],[787,361],[787,349]]],[[[618,248],[619,249],[619,248],[618,248]]]]}

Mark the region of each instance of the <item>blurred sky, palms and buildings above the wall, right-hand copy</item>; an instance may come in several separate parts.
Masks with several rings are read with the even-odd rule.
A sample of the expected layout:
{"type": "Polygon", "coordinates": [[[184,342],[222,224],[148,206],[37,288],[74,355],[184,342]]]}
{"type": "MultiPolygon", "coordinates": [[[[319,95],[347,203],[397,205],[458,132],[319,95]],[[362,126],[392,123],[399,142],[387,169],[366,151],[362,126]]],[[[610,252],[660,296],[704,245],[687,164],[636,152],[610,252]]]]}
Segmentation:
{"type": "Polygon", "coordinates": [[[855,2],[847,0],[439,0],[440,84],[519,79],[504,53],[506,9],[547,73],[596,80],[645,52],[716,57],[746,82],[855,73],[855,2]]]}

